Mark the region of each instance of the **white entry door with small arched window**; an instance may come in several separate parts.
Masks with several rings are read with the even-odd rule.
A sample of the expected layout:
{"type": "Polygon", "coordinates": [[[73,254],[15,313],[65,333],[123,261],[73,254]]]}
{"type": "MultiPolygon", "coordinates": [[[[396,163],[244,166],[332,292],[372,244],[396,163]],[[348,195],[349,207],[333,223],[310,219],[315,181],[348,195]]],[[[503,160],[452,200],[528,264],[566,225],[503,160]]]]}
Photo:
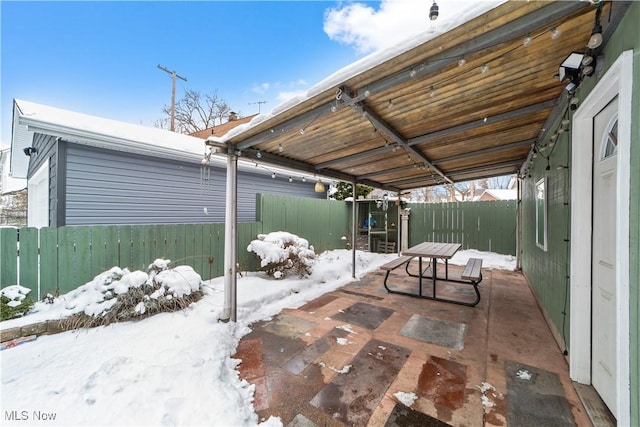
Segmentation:
{"type": "Polygon", "coordinates": [[[591,382],[616,416],[618,98],[593,119],[591,382]]]}

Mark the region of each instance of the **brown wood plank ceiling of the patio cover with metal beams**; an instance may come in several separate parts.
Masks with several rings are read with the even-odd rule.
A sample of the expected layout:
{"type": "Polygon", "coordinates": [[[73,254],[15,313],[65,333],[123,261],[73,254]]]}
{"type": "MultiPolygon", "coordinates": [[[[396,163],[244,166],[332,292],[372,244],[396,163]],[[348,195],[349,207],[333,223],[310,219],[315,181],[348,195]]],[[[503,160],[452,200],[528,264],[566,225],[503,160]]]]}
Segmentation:
{"type": "Polygon", "coordinates": [[[398,192],[518,173],[564,111],[567,82],[555,75],[572,51],[585,51],[595,10],[580,1],[504,3],[227,145],[243,158],[398,192]]]}

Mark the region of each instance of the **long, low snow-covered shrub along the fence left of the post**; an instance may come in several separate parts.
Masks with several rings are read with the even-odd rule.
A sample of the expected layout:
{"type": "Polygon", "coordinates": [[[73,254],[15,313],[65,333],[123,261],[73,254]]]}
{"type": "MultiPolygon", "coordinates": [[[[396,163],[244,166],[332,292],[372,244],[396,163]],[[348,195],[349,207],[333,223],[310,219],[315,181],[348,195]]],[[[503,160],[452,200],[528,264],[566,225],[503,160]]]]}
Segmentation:
{"type": "Polygon", "coordinates": [[[29,318],[37,322],[87,316],[104,319],[99,324],[107,324],[184,308],[202,296],[202,279],[189,266],[168,268],[170,262],[154,261],[148,267],[149,273],[112,267],[58,298],[47,296],[45,301],[36,302],[29,318]],[[187,303],[178,300],[187,296],[192,296],[187,303]]]}

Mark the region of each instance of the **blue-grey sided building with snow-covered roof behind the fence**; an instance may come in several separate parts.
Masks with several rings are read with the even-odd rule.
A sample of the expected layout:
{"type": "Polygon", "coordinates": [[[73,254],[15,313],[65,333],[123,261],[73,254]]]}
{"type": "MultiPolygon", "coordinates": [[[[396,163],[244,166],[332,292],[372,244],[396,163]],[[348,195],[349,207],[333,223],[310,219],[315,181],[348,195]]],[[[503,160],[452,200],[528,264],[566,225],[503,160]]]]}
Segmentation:
{"type": "MultiPolygon", "coordinates": [[[[203,166],[202,139],[15,100],[12,155],[27,147],[29,226],[224,221],[226,160],[203,166]]],[[[311,178],[241,160],[238,219],[258,193],[325,198],[311,178]]]]}

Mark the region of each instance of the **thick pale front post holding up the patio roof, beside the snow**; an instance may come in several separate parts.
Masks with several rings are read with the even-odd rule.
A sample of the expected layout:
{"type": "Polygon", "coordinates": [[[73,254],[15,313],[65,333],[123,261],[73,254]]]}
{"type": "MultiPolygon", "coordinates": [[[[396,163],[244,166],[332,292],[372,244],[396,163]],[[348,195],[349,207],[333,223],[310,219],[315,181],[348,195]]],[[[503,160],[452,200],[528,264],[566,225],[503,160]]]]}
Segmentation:
{"type": "Polygon", "coordinates": [[[227,151],[227,189],[224,218],[224,307],[223,322],[237,321],[237,243],[238,243],[238,155],[227,151]]]}

